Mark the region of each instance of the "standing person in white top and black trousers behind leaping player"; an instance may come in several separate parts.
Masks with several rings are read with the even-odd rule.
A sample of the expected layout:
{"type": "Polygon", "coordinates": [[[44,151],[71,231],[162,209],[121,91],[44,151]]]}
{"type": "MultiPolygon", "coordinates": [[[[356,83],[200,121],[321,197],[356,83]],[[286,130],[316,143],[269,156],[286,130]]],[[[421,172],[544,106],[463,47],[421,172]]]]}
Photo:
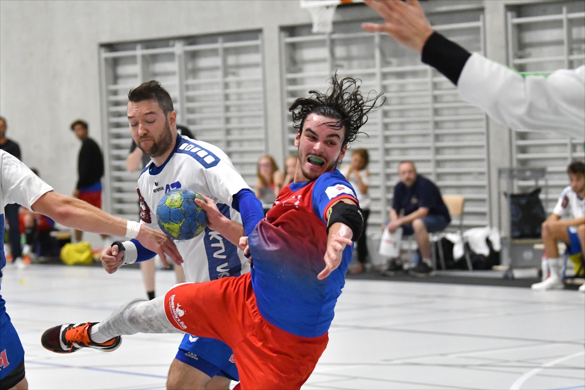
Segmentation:
{"type": "Polygon", "coordinates": [[[345,176],[349,184],[356,190],[357,200],[360,202],[360,208],[363,211],[364,229],[362,235],[357,239],[357,267],[349,270],[350,274],[359,274],[363,272],[366,264],[368,251],[366,243],[367,218],[370,216],[370,195],[367,190],[370,185],[370,172],[367,165],[370,163],[370,155],[367,149],[356,149],[352,151],[352,160],[349,165],[341,168],[341,173],[345,176]]]}

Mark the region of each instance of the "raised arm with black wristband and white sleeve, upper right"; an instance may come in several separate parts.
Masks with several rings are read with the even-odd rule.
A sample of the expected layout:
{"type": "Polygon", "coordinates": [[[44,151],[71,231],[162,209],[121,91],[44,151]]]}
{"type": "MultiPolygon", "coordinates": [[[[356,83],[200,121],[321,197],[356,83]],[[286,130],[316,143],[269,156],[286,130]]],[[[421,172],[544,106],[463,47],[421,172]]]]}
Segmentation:
{"type": "Polygon", "coordinates": [[[421,53],[423,63],[457,86],[463,101],[512,129],[585,139],[585,65],[550,75],[518,73],[433,31],[417,0],[365,2],[384,23],[363,23],[362,28],[387,33],[421,53]]]}

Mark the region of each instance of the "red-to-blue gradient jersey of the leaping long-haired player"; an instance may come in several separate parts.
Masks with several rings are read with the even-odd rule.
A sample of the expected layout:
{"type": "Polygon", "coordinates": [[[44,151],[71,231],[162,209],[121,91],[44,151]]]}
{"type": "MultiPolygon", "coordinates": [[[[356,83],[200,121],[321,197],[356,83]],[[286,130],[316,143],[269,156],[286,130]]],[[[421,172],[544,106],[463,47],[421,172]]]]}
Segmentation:
{"type": "Polygon", "coordinates": [[[286,332],[318,337],[329,330],[353,245],[346,246],[341,264],[329,277],[319,280],[317,275],[325,268],[325,211],[342,198],[357,203],[355,191],[338,170],[315,181],[293,182],[280,191],[266,219],[250,234],[258,310],[286,332]]]}

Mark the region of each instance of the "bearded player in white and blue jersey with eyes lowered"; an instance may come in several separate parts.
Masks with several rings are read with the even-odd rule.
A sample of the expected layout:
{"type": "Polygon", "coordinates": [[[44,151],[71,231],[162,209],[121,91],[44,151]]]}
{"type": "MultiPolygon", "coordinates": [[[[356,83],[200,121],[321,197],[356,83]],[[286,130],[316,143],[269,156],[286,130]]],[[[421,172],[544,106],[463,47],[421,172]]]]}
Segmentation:
{"type": "MultiPolygon", "coordinates": [[[[144,82],[132,89],[128,98],[130,132],[137,146],[152,158],[138,180],[140,222],[159,229],[156,209],[161,198],[173,189],[190,188],[212,199],[223,218],[233,221],[233,234],[224,237],[209,223],[199,236],[177,241],[187,281],[206,282],[248,272],[250,265],[237,244],[245,235],[244,228],[250,233],[264,216],[252,189],[221,149],[177,134],[173,101],[158,82],[144,82]],[[242,226],[238,210],[245,202],[256,203],[257,214],[252,219],[244,216],[242,226]]],[[[204,209],[209,207],[199,203],[204,209]]],[[[112,244],[104,250],[102,261],[106,270],[113,272],[121,264],[149,260],[154,255],[130,240],[112,244]]],[[[239,380],[231,348],[219,340],[185,334],[171,363],[167,388],[228,389],[230,379],[239,380]]]]}

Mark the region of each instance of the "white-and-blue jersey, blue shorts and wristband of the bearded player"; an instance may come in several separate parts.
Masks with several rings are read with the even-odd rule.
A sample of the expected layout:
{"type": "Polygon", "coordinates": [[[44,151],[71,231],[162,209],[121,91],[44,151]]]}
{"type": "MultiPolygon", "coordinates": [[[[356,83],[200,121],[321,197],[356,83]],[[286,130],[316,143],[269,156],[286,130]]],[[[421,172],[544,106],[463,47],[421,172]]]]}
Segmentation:
{"type": "MultiPolygon", "coordinates": [[[[236,211],[239,206],[235,204],[239,201],[239,194],[252,191],[221,149],[185,136],[177,136],[176,146],[164,164],[157,167],[151,162],[140,174],[137,188],[140,223],[160,230],[156,218],[157,206],[167,192],[176,188],[190,188],[208,196],[223,215],[238,222],[241,218],[236,211]]],[[[136,240],[123,244],[126,247],[125,263],[154,257],[153,252],[144,249],[136,240]]],[[[239,276],[250,270],[242,250],[209,227],[199,236],[176,241],[176,244],[184,260],[183,270],[188,282],[239,276]]],[[[222,341],[196,336],[185,334],[177,358],[211,377],[219,374],[238,380],[232,350],[222,341]],[[220,371],[209,371],[205,365],[207,362],[220,371]]]]}

